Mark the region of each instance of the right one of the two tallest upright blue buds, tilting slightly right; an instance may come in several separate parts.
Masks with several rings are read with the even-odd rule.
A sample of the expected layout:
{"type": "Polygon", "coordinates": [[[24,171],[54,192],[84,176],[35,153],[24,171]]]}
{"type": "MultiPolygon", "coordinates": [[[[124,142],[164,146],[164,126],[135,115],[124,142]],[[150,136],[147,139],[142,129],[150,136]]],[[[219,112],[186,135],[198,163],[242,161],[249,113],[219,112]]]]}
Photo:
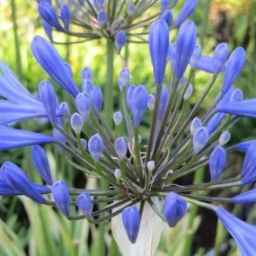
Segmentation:
{"type": "Polygon", "coordinates": [[[194,22],[184,22],[178,33],[176,44],[175,75],[181,78],[190,63],[197,40],[197,27],[194,22]]]}

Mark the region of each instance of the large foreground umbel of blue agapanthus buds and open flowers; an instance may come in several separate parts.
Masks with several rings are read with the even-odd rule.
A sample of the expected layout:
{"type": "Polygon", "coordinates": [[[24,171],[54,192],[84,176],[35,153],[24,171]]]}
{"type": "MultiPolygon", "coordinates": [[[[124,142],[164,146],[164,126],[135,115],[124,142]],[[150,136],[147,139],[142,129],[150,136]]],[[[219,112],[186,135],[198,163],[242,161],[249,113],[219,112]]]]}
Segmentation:
{"type": "MultiPolygon", "coordinates": [[[[66,5],[63,6],[61,18],[65,20],[65,26],[62,27],[54,9],[46,3],[40,2],[41,17],[59,31],[68,30],[67,20],[72,20],[74,13],[69,13],[66,5]]],[[[90,15],[93,15],[93,10],[104,8],[105,4],[108,2],[95,2],[90,15]]],[[[136,13],[137,8],[129,7],[129,15],[136,13]]],[[[227,46],[221,44],[216,47],[213,57],[201,56],[196,35],[196,25],[183,22],[176,42],[169,45],[167,22],[161,18],[152,24],[149,53],[155,81],[154,94],[149,94],[146,85],[139,81],[139,85],[130,85],[128,67],[124,66],[119,75],[123,111],[114,114],[113,127],[102,118],[102,90],[93,84],[92,70],[85,67],[81,86],[75,84],[71,67],[49,41],[36,37],[31,43],[32,53],[52,80],[73,97],[74,112],[70,113],[66,102],[58,103],[49,81],[40,83],[40,97],[37,98],[1,62],[0,95],[4,100],[0,105],[0,150],[31,146],[32,163],[46,185],[31,182],[17,165],[5,162],[0,171],[0,195],[22,195],[40,204],[57,207],[70,220],[85,218],[92,224],[98,224],[119,217],[119,221],[113,221],[112,225],[119,246],[126,243],[128,248],[133,248],[131,250],[142,245],[150,246],[153,254],[159,243],[161,223],[164,221],[171,227],[179,225],[189,208],[188,203],[195,204],[216,213],[243,255],[254,255],[256,248],[252,239],[256,235],[256,227],[225,211],[221,203],[254,203],[255,190],[233,198],[208,196],[209,190],[243,187],[256,181],[256,140],[229,145],[230,129],[236,121],[243,117],[256,118],[256,99],[243,100],[242,91],[233,87],[242,70],[245,51],[237,48],[228,56],[227,46]],[[165,68],[169,64],[172,68],[165,68]],[[184,114],[193,92],[191,81],[199,69],[211,74],[211,79],[190,112],[184,114]],[[166,72],[171,73],[170,81],[166,72]],[[202,112],[202,102],[221,73],[224,73],[223,86],[216,101],[206,113],[198,116],[198,110],[202,112]],[[10,126],[24,119],[42,117],[49,119],[52,135],[10,126]],[[147,137],[148,133],[141,129],[146,119],[150,120],[147,137]],[[118,129],[121,122],[127,131],[122,136],[118,129]],[[112,128],[115,128],[115,133],[112,128]],[[79,162],[77,172],[83,171],[85,175],[107,181],[109,188],[79,190],[69,188],[69,182],[56,181],[51,175],[47,154],[41,147],[45,144],[57,146],[59,154],[71,156],[70,163],[79,162]],[[226,163],[229,154],[235,150],[245,155],[243,166],[240,174],[228,179],[226,163]],[[181,185],[177,181],[202,168],[209,170],[208,181],[190,185],[181,185]],[[201,192],[195,195],[194,191],[201,192]],[[52,197],[45,197],[45,194],[52,197]],[[101,207],[101,202],[107,206],[101,207]],[[99,204],[97,210],[93,210],[94,204],[99,204]],[[146,213],[150,210],[154,217],[146,216],[145,209],[146,213]],[[118,228],[115,224],[119,225],[118,228]],[[157,237],[148,245],[147,235],[153,237],[154,231],[157,237]],[[125,234],[126,241],[121,233],[125,234]]],[[[122,38],[119,45],[121,41],[122,38]]]]}

